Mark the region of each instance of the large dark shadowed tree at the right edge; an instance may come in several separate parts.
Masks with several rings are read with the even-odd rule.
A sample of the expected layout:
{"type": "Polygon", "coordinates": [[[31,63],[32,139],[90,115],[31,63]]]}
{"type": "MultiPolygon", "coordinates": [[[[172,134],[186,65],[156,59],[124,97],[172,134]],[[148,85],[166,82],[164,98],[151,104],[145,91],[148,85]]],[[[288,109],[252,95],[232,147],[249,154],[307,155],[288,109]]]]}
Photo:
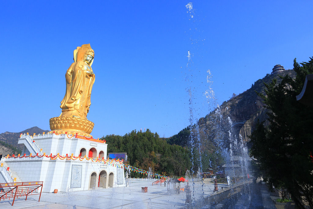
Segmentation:
{"type": "Polygon", "coordinates": [[[250,136],[251,156],[257,159],[259,171],[269,185],[285,188],[299,208],[306,202],[313,208],[313,108],[296,100],[305,76],[313,73],[313,59],[294,60],[295,79],[288,75],[280,84],[273,79],[265,84],[264,100],[269,126],[261,122],[250,136]]]}

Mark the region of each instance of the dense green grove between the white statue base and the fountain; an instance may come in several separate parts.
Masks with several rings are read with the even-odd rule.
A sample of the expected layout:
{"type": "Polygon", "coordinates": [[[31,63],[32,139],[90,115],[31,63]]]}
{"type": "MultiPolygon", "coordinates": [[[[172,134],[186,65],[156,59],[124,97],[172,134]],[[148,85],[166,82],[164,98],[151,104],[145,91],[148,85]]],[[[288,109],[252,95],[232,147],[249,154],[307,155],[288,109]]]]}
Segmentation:
{"type": "MultiPolygon", "coordinates": [[[[176,144],[168,144],[157,133],[133,130],[124,136],[107,135],[102,140],[108,143],[109,152],[126,152],[128,163],[143,170],[182,176],[190,170],[190,150],[176,144]]],[[[143,177],[135,173],[135,177],[143,177]]]]}

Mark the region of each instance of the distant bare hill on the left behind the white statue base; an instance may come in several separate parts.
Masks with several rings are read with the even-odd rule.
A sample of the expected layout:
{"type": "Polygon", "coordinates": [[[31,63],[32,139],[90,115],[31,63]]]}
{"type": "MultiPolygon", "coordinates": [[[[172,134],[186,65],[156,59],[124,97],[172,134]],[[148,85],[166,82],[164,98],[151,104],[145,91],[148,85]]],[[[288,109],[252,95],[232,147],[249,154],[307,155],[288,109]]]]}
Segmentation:
{"type": "Polygon", "coordinates": [[[21,133],[29,133],[29,135],[33,135],[33,133],[43,133],[43,132],[49,132],[49,130],[43,130],[41,128],[38,128],[37,126],[28,128],[24,131],[12,133],[12,132],[4,132],[0,134],[0,153],[3,155],[7,154],[14,154],[23,149],[22,144],[18,144],[18,138],[21,133]],[[16,148],[17,150],[15,150],[16,148]]]}

